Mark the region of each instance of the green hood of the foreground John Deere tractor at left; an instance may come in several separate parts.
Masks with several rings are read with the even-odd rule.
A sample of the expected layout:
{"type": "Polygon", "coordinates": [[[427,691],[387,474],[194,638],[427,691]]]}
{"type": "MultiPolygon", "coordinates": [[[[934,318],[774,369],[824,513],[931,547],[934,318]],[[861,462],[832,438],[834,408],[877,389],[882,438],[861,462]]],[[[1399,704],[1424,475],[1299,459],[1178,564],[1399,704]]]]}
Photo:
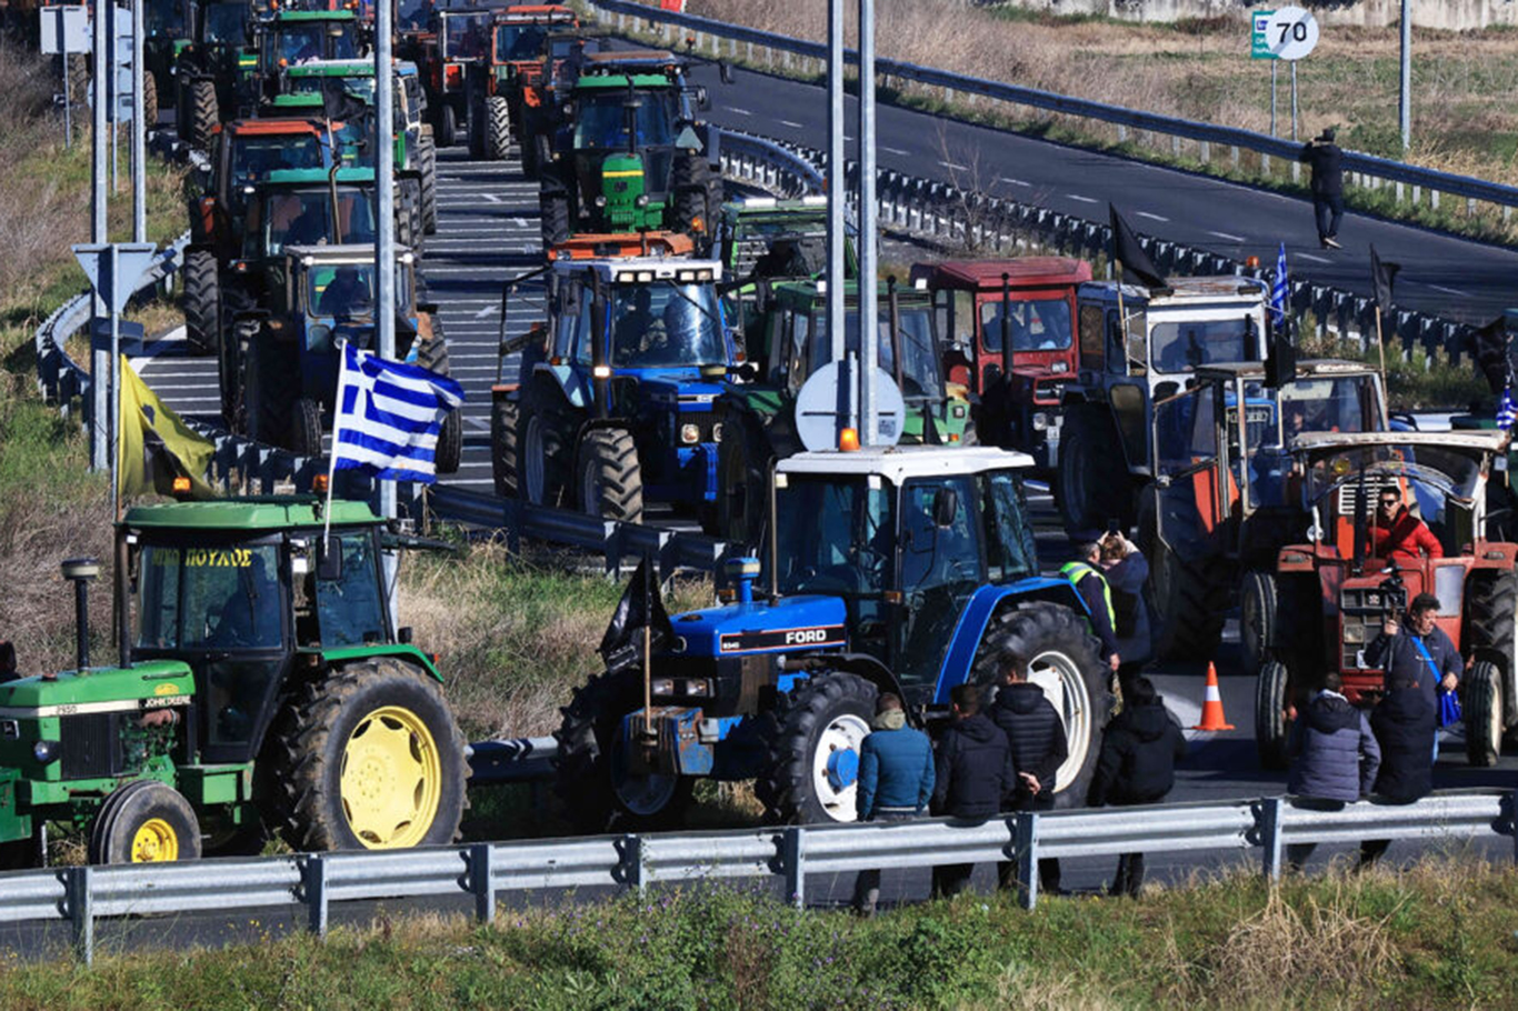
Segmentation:
{"type": "Polygon", "coordinates": [[[64,671],[56,679],[26,677],[0,685],[0,717],[73,717],[184,706],[193,694],[188,665],[147,660],[124,669],[64,671]]]}

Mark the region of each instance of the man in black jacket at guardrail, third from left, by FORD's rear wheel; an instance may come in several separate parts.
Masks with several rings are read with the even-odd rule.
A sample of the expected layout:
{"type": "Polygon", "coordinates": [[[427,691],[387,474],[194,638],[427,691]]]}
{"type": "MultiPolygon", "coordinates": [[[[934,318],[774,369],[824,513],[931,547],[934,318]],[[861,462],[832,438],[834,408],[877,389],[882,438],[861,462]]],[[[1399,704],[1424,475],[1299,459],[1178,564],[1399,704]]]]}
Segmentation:
{"type": "MultiPolygon", "coordinates": [[[[1070,754],[1064,721],[1037,685],[1028,683],[1028,665],[1020,656],[1005,657],[1002,689],[991,706],[991,721],[1006,735],[1013,753],[1017,783],[1009,811],[1052,811],[1055,773],[1070,754]]],[[[1017,883],[1017,865],[1000,865],[1002,888],[1017,883]]],[[[1058,896],[1060,861],[1038,861],[1038,887],[1044,894],[1058,896]]]]}

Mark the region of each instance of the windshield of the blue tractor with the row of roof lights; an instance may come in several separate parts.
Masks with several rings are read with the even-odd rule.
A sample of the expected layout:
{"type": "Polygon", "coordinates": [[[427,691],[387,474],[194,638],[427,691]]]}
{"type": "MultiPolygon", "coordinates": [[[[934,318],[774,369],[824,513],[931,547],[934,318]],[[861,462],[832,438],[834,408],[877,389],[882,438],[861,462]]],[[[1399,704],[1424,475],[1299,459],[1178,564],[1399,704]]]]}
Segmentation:
{"type": "MultiPolygon", "coordinates": [[[[694,369],[727,364],[721,310],[710,282],[618,285],[612,293],[612,364],[694,369]]],[[[581,358],[589,360],[581,346],[581,358]]]]}

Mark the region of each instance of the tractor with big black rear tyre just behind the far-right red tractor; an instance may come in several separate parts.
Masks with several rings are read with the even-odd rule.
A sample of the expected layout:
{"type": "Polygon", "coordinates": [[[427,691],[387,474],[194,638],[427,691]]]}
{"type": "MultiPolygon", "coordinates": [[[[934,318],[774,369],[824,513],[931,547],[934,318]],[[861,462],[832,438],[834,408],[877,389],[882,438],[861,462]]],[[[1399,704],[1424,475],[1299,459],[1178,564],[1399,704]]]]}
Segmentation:
{"type": "MultiPolygon", "coordinates": [[[[1301,361],[1271,387],[1257,363],[1201,366],[1190,389],[1155,404],[1149,424],[1155,475],[1140,492],[1138,542],[1149,559],[1160,647],[1207,656],[1246,572],[1274,565],[1307,524],[1302,474],[1290,455],[1304,433],[1383,433],[1380,373],[1354,361],[1301,361]]],[[[1260,645],[1245,580],[1246,666],[1260,645]]],[[[1268,638],[1268,636],[1266,636],[1268,638]]]]}

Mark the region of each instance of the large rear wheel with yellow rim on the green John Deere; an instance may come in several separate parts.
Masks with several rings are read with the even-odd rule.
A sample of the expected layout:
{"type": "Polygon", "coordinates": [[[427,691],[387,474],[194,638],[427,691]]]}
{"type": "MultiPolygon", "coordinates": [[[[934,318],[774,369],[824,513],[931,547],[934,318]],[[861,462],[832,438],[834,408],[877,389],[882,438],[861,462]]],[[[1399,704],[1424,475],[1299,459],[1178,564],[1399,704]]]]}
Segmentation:
{"type": "Polygon", "coordinates": [[[446,846],[465,809],[465,739],[425,671],[389,657],[308,683],[281,718],[279,830],[299,850],[446,846]]]}

